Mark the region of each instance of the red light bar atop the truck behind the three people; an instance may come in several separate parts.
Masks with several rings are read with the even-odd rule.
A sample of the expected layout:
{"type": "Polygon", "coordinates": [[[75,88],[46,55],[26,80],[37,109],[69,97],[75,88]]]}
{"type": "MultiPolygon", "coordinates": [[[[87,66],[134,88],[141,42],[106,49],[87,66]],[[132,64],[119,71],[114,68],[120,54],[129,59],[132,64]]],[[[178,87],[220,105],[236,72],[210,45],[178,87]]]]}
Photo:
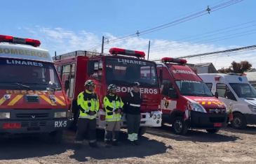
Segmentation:
{"type": "Polygon", "coordinates": [[[142,51],[133,51],[133,50],[126,50],[121,48],[111,48],[109,50],[109,54],[123,54],[131,57],[145,57],[145,53],[142,51]]]}

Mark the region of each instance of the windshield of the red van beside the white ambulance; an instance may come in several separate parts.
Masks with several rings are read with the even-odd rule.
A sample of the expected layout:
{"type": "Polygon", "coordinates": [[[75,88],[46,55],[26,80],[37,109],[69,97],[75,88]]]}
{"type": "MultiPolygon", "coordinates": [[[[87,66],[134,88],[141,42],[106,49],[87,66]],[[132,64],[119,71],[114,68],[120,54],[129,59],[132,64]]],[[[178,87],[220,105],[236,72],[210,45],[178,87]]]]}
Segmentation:
{"type": "Polygon", "coordinates": [[[213,97],[210,89],[204,82],[191,80],[175,80],[180,94],[183,96],[213,97]]]}

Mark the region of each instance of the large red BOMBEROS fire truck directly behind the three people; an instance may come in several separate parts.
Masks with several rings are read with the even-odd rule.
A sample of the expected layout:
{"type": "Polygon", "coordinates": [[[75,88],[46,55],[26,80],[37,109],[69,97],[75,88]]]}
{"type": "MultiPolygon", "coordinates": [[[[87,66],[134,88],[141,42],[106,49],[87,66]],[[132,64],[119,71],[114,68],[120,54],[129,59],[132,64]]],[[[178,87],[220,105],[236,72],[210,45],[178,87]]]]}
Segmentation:
{"type": "MultiPolygon", "coordinates": [[[[65,85],[67,97],[72,102],[70,110],[74,125],[79,117],[77,96],[84,91],[86,80],[93,80],[96,84],[95,93],[100,99],[97,128],[103,129],[105,126],[103,98],[108,94],[109,84],[116,84],[118,95],[123,98],[132,90],[133,82],[141,84],[140,91],[143,95],[140,135],[146,132],[148,126],[161,126],[160,87],[156,64],[153,61],[144,60],[144,52],[120,48],[112,48],[109,52],[110,54],[100,54],[75,51],[53,57],[55,67],[65,85]]],[[[161,77],[162,74],[160,79],[161,77]]],[[[126,117],[121,119],[121,127],[126,128],[126,117]]]]}

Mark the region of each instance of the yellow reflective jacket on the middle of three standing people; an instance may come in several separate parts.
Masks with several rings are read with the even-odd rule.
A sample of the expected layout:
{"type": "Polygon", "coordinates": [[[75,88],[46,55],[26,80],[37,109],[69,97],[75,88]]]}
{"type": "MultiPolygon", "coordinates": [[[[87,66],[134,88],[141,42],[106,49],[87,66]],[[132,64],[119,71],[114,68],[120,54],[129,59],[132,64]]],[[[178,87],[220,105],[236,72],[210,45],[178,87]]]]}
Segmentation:
{"type": "Polygon", "coordinates": [[[119,108],[123,109],[123,102],[119,96],[115,96],[113,94],[109,94],[104,98],[104,105],[106,110],[105,121],[120,121],[121,114],[115,114],[119,108]]]}

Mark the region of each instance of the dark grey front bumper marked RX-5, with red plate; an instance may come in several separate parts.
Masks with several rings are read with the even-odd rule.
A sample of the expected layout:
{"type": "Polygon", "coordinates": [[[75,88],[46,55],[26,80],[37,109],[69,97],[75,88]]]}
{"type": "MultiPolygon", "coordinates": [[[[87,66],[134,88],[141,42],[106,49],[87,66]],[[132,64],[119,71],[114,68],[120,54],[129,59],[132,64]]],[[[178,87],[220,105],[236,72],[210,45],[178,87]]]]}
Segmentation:
{"type": "Polygon", "coordinates": [[[72,120],[66,117],[55,118],[55,112],[67,112],[66,109],[51,110],[0,110],[10,112],[11,119],[0,119],[0,133],[50,133],[69,128],[72,120]]]}

